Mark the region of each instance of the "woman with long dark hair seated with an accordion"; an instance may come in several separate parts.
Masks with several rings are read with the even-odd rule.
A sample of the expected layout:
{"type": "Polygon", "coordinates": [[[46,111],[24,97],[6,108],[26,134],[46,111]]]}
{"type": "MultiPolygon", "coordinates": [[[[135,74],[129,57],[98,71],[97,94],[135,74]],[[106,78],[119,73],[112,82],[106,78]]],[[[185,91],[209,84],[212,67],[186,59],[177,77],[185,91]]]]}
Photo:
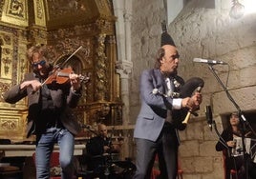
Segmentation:
{"type": "MultiPolygon", "coordinates": [[[[231,113],[229,116],[228,127],[222,132],[222,139],[220,138],[215,147],[217,151],[224,152],[225,179],[230,178],[231,169],[235,169],[237,171],[238,179],[245,178],[244,154],[242,140],[240,140],[242,139],[242,131],[242,125],[240,124],[238,113],[231,113]]],[[[252,137],[251,135],[251,131],[245,131],[245,137],[252,137]]],[[[248,154],[245,154],[245,158],[248,170],[253,171],[255,164],[251,161],[248,154]]],[[[253,172],[248,173],[249,179],[255,178],[255,176],[252,176],[253,172]]]]}

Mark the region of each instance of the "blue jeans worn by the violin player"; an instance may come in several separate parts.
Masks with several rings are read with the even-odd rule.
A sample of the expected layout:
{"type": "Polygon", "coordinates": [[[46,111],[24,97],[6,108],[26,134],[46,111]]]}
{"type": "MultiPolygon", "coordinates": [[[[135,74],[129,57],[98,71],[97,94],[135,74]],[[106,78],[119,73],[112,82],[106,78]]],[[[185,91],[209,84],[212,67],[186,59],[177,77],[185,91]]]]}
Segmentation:
{"type": "Polygon", "coordinates": [[[51,128],[42,134],[36,144],[35,166],[37,179],[50,178],[50,158],[55,143],[59,146],[61,179],[71,179],[73,177],[74,135],[67,129],[51,128]]]}

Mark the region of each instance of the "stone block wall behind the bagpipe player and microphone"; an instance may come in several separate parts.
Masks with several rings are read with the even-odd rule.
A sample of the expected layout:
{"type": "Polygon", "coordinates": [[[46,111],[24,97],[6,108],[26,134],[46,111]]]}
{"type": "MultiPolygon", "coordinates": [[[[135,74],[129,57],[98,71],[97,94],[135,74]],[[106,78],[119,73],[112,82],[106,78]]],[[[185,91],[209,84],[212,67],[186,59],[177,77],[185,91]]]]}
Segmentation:
{"type": "MultiPolygon", "coordinates": [[[[180,161],[184,179],[224,178],[223,157],[215,150],[218,136],[205,120],[204,107],[211,105],[217,129],[222,120],[236,110],[206,64],[193,63],[193,58],[218,59],[228,66],[214,66],[218,76],[243,111],[255,110],[256,98],[256,14],[231,19],[231,8],[215,1],[211,9],[199,8],[199,0],[191,0],[168,26],[181,53],[180,75],[187,80],[198,76],[204,80],[203,104],[199,117],[192,117],[181,131],[180,161]]],[[[132,24],[131,121],[139,112],[139,75],[154,67],[155,53],[160,48],[160,22],[164,20],[160,0],[134,0],[132,24]]]]}

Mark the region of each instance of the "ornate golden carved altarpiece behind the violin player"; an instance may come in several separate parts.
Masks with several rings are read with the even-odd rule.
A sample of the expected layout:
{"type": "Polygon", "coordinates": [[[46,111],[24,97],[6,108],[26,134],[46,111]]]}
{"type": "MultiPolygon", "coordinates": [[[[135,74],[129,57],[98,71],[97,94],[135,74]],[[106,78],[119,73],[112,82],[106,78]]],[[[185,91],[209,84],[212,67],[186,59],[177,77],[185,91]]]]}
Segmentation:
{"type": "Polygon", "coordinates": [[[79,122],[121,124],[112,7],[108,0],[1,0],[0,138],[28,140],[26,98],[11,105],[4,102],[2,94],[31,70],[26,50],[33,44],[46,44],[53,64],[65,61],[82,47],[67,62],[75,73],[90,77],[75,109],[79,122]]]}

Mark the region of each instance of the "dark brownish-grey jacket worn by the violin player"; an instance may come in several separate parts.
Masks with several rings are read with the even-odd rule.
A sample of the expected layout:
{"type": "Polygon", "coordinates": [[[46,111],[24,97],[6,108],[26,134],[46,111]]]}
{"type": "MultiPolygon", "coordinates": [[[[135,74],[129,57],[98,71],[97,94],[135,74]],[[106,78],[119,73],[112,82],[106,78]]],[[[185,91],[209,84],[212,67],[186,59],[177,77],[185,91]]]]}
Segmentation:
{"type": "MultiPolygon", "coordinates": [[[[34,73],[27,73],[25,75],[24,81],[29,80],[39,80],[35,77],[34,73]]],[[[54,106],[57,108],[65,107],[63,112],[61,113],[60,120],[63,126],[71,131],[73,134],[77,134],[80,130],[80,127],[76,121],[75,115],[72,113],[70,108],[75,108],[78,99],[81,96],[80,94],[76,94],[69,90],[69,94],[65,96],[64,91],[62,89],[50,89],[51,96],[53,99],[54,106]],[[66,99],[63,100],[63,98],[66,99]],[[66,102],[66,104],[64,104],[66,102]]],[[[38,112],[40,110],[39,97],[40,90],[36,92],[32,92],[32,88],[20,89],[20,85],[15,85],[7,92],[4,93],[4,99],[6,102],[14,104],[22,98],[28,96],[28,122],[27,122],[27,137],[29,137],[36,128],[35,121],[38,119],[38,112]]]]}

